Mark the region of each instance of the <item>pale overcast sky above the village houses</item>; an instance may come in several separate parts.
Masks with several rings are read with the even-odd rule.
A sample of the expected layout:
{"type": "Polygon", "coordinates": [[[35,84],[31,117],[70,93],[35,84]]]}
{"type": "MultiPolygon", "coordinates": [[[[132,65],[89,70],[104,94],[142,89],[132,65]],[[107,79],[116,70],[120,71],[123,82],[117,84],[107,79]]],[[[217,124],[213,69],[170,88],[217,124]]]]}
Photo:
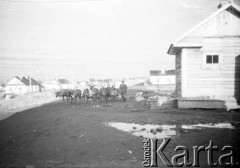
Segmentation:
{"type": "Polygon", "coordinates": [[[0,82],[29,72],[80,80],[174,69],[171,42],[220,1],[0,0],[0,82]]]}

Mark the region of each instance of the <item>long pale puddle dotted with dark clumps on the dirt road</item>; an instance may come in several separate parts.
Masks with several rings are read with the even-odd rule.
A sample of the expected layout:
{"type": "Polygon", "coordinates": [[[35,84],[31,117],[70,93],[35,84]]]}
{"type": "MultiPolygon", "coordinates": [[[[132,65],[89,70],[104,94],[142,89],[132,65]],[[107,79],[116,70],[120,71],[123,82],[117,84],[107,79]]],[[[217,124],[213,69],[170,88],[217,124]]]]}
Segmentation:
{"type": "MultiPolygon", "coordinates": [[[[135,123],[121,123],[121,122],[109,122],[105,123],[107,126],[114,127],[118,130],[129,132],[135,136],[142,136],[144,138],[170,138],[177,134],[176,125],[140,125],[135,123]]],[[[202,129],[202,128],[227,128],[234,129],[230,123],[218,123],[218,124],[195,124],[195,125],[180,125],[178,128],[182,129],[202,129]]]]}

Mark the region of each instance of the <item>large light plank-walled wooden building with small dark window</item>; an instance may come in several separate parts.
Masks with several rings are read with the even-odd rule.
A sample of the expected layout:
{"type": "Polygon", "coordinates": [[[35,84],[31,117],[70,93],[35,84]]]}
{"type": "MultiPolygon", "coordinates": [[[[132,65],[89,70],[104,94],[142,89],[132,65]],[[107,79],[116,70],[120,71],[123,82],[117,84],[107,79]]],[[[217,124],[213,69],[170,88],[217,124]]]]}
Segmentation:
{"type": "Polygon", "coordinates": [[[174,41],[181,108],[235,108],[240,102],[240,8],[219,9],[174,41]],[[215,101],[218,100],[218,101],[215,101]]]}

